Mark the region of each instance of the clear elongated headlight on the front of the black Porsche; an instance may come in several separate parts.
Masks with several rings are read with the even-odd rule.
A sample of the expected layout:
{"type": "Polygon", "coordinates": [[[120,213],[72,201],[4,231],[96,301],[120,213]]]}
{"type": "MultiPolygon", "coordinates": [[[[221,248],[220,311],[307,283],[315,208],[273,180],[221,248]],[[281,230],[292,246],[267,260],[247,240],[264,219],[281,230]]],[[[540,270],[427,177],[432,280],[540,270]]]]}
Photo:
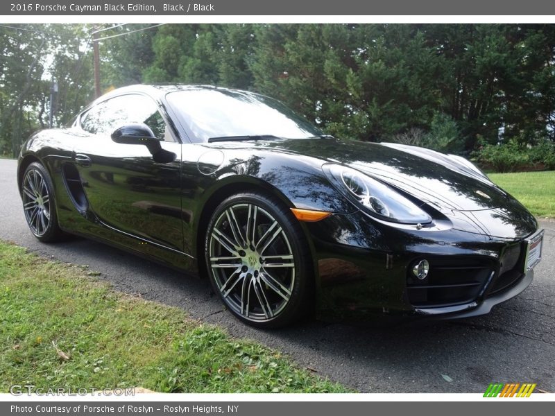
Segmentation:
{"type": "Polygon", "coordinates": [[[425,224],[432,218],[400,193],[355,169],[325,164],[328,179],[348,198],[356,199],[370,214],[404,224],[425,224]]]}

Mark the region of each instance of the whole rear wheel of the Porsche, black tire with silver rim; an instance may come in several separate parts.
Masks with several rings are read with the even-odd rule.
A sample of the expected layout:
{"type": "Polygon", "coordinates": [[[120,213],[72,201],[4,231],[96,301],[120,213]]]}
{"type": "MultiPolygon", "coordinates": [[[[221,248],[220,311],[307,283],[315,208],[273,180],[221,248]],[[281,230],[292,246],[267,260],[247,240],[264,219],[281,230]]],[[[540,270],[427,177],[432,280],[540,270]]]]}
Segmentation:
{"type": "Polygon", "coordinates": [[[20,191],[25,220],[33,235],[44,243],[62,239],[64,234],[58,225],[54,187],[42,164],[33,162],[26,168],[20,191]]]}

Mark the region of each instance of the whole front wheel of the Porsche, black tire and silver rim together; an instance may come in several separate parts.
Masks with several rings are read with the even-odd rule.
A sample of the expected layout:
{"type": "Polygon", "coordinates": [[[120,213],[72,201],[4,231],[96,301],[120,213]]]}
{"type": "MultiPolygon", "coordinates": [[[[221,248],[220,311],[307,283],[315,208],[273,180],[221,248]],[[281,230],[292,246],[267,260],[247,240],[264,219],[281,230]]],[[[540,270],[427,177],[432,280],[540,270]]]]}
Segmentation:
{"type": "Polygon", "coordinates": [[[311,310],[307,241],[278,198],[253,192],[221,202],[207,227],[205,259],[214,291],[243,322],[282,327],[311,310]]]}

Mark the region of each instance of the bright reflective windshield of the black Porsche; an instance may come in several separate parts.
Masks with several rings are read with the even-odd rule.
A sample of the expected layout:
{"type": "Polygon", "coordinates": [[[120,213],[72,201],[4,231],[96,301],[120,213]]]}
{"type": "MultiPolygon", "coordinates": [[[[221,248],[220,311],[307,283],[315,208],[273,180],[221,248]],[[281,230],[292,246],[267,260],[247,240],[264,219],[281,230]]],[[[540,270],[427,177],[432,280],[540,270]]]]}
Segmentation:
{"type": "Polygon", "coordinates": [[[250,92],[193,89],[170,92],[167,100],[196,142],[211,137],[273,135],[306,139],[322,135],[279,101],[250,92]]]}

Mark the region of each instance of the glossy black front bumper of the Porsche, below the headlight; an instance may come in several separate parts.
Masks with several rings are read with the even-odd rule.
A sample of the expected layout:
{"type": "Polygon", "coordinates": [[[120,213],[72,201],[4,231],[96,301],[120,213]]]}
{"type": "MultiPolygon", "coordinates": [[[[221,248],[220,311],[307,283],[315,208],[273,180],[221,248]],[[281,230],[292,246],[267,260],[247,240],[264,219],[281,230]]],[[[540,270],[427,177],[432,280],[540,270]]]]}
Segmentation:
{"type": "Polygon", "coordinates": [[[531,283],[533,270],[523,271],[527,240],[540,233],[501,239],[454,228],[419,232],[384,227],[360,213],[308,227],[318,312],[332,319],[376,312],[441,319],[489,313],[531,283]],[[411,279],[411,266],[422,258],[431,261],[430,281],[411,279]],[[435,275],[434,264],[443,269],[435,275]]]}

